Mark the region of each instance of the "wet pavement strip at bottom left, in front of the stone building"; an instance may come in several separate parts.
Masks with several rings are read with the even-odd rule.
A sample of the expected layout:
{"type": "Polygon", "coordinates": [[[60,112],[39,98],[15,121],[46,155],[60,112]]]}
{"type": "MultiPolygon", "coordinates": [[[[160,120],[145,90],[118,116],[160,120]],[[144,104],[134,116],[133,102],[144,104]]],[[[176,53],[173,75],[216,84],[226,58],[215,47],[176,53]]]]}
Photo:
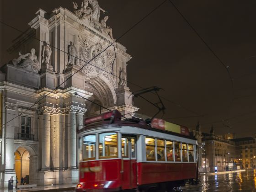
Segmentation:
{"type": "Polygon", "coordinates": [[[8,190],[7,188],[0,188],[0,192],[74,192],[76,184],[63,184],[63,185],[39,185],[33,188],[25,188],[25,189],[13,189],[8,190]]]}

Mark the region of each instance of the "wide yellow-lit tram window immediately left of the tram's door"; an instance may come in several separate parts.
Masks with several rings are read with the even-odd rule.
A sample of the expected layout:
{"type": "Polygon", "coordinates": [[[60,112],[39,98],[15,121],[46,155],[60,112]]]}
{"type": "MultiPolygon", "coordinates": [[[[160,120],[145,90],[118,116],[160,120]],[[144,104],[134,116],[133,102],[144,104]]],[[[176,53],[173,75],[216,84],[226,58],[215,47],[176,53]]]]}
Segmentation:
{"type": "Polygon", "coordinates": [[[99,134],[99,157],[100,159],[117,157],[117,133],[99,134]]]}

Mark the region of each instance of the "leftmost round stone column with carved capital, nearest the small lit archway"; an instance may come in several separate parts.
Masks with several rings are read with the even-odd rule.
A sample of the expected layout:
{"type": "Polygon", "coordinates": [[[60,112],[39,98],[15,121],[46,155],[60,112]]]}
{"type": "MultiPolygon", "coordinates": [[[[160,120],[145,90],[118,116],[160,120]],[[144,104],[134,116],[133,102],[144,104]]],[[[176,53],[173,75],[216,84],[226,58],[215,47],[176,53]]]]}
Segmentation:
{"type": "Polygon", "coordinates": [[[50,113],[52,107],[42,107],[43,112],[43,131],[42,131],[42,171],[50,169],[50,113]]]}

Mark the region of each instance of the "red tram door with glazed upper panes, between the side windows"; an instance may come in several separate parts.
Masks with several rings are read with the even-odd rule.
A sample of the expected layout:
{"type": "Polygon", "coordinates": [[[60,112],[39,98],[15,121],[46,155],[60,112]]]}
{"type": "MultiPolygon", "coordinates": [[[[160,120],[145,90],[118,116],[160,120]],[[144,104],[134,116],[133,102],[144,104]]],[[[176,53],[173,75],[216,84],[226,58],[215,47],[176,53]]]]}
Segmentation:
{"type": "Polygon", "coordinates": [[[122,189],[137,187],[136,136],[122,135],[122,189]]]}

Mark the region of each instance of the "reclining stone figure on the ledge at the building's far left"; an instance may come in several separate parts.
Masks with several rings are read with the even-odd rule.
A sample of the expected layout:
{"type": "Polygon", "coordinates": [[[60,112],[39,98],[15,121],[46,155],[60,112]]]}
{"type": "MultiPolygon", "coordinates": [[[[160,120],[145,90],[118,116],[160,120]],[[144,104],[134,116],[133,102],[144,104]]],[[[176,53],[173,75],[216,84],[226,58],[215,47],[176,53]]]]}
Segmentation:
{"type": "Polygon", "coordinates": [[[36,50],[34,48],[31,49],[31,53],[26,53],[22,55],[19,53],[19,57],[17,59],[13,59],[11,64],[32,71],[34,73],[38,73],[40,69],[40,64],[37,61],[37,56],[35,55],[36,50]]]}

